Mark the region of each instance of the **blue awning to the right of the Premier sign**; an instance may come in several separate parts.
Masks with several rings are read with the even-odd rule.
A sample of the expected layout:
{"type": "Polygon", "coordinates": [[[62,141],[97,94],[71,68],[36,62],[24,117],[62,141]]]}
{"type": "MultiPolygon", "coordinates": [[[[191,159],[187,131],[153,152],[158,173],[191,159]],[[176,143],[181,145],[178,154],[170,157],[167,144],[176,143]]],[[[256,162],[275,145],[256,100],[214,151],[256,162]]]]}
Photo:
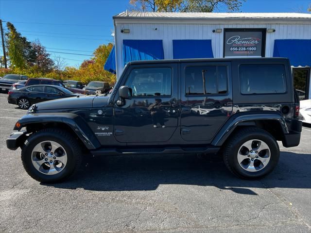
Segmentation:
{"type": "Polygon", "coordinates": [[[294,67],[311,67],[311,40],[275,40],[273,56],[289,58],[294,67]]]}

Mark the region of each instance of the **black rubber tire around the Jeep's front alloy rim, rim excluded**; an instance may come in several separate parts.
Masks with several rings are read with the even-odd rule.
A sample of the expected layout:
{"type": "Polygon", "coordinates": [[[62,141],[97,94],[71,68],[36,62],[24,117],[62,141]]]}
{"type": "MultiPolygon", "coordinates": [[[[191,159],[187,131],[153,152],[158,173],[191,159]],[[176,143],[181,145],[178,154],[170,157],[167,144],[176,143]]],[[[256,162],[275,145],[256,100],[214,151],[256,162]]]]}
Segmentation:
{"type": "Polygon", "coordinates": [[[43,129],[31,135],[22,147],[21,160],[27,173],[43,183],[55,183],[73,175],[81,165],[82,150],[71,133],[60,129],[43,129]],[[47,175],[38,171],[32,163],[32,152],[36,145],[43,141],[54,141],[60,144],[67,153],[67,164],[57,174],[47,175]]]}

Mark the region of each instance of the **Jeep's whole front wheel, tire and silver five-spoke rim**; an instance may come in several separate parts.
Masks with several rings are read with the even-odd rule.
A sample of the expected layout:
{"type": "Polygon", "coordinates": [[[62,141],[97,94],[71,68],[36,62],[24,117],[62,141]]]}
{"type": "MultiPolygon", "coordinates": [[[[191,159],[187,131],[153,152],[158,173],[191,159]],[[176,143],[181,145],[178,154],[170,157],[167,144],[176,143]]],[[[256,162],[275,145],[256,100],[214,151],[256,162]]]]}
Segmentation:
{"type": "Polygon", "coordinates": [[[59,182],[80,166],[81,148],[67,131],[44,129],[30,136],[21,159],[27,173],[39,182],[59,182]]]}

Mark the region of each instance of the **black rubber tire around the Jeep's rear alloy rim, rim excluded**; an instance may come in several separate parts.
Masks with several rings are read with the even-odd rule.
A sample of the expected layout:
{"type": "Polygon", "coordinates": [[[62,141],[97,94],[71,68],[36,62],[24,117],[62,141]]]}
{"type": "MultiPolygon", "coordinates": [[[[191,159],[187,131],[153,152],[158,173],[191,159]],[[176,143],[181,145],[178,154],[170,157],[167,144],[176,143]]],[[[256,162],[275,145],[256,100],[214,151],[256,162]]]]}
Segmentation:
{"type": "Polygon", "coordinates": [[[259,128],[249,127],[239,130],[228,139],[224,147],[223,158],[225,166],[234,175],[242,179],[252,180],[259,179],[272,172],[277,165],[279,154],[280,152],[276,139],[270,133],[259,128]],[[268,145],[270,149],[270,160],[261,170],[251,172],[240,166],[238,162],[238,153],[243,143],[256,139],[261,140],[268,145]]]}

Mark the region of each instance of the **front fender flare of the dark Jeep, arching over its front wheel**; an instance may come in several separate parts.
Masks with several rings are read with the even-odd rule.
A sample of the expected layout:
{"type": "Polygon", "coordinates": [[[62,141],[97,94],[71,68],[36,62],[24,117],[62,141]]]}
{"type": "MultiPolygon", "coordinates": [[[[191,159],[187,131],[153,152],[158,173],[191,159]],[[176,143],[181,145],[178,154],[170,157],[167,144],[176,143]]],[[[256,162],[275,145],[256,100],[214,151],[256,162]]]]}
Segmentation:
{"type": "Polygon", "coordinates": [[[37,113],[22,116],[15,124],[14,130],[20,131],[21,128],[29,124],[42,123],[65,123],[81,139],[87,149],[93,150],[101,146],[92,130],[88,127],[85,120],[73,113],[37,113]]]}

